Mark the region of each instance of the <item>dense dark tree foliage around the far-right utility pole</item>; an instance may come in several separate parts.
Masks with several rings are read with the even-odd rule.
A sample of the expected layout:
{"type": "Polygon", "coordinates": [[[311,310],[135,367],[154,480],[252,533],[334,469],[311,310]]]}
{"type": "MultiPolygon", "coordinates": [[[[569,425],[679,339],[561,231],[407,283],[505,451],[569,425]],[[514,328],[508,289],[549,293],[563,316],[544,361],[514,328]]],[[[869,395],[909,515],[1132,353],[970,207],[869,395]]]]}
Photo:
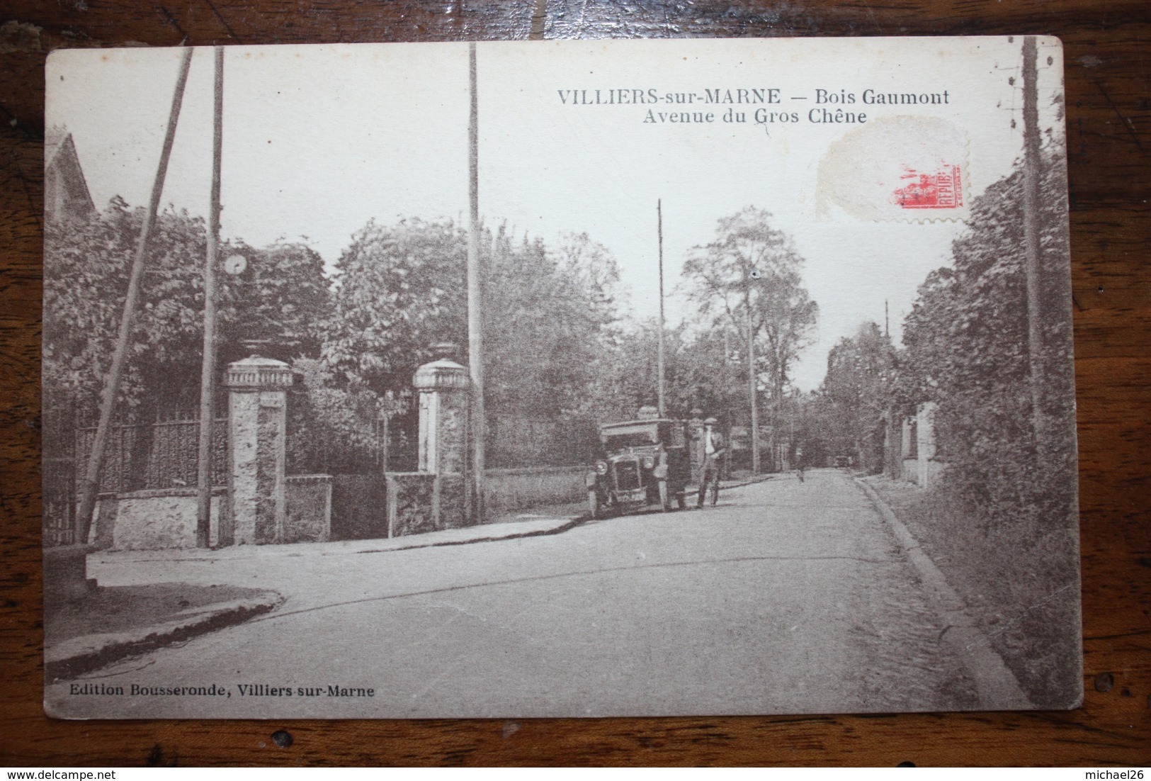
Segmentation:
{"type": "Polygon", "coordinates": [[[1066,180],[1061,147],[1043,154],[1039,226],[1044,273],[1041,324],[1043,403],[1052,422],[1043,458],[1034,430],[1028,367],[1022,170],[971,205],[968,229],[952,245],[953,264],[928,275],[904,327],[900,397],[937,403],[937,456],[944,479],[983,523],[1066,515],[1073,507],[1074,378],[1067,276],[1066,180]]]}

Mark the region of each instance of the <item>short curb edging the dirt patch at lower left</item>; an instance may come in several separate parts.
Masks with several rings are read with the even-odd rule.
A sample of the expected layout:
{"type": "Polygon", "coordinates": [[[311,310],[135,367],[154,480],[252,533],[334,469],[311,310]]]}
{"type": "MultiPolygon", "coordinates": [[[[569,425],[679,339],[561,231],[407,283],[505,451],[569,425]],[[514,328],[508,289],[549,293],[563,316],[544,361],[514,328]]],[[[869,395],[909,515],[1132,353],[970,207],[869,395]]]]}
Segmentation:
{"type": "Polygon", "coordinates": [[[249,599],[196,608],[184,617],[151,627],[74,637],[44,650],[44,675],[48,681],[74,678],[127,657],[243,623],[275,609],[283,600],[280,593],[266,591],[249,599]]]}

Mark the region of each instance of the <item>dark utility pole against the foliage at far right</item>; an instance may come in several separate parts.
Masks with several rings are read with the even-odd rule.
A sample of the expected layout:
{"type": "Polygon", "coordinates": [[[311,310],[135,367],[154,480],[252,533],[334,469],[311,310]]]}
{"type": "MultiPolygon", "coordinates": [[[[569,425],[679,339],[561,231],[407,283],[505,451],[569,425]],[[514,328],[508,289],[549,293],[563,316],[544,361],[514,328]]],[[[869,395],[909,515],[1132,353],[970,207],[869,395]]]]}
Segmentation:
{"type": "Polygon", "coordinates": [[[1031,422],[1042,450],[1043,417],[1043,273],[1039,253],[1039,88],[1035,36],[1023,38],[1023,255],[1027,265],[1027,352],[1031,374],[1031,422]]]}

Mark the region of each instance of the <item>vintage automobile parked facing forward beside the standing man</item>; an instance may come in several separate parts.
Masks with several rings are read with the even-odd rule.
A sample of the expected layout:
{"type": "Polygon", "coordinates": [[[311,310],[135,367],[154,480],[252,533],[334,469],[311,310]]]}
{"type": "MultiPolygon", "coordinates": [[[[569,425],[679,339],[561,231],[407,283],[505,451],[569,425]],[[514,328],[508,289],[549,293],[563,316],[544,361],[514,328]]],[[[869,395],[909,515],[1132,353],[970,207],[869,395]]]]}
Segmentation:
{"type": "Polygon", "coordinates": [[[692,478],[687,424],[654,418],[600,426],[600,460],[587,473],[592,517],[633,513],[648,505],[671,509],[686,505],[692,478]]]}

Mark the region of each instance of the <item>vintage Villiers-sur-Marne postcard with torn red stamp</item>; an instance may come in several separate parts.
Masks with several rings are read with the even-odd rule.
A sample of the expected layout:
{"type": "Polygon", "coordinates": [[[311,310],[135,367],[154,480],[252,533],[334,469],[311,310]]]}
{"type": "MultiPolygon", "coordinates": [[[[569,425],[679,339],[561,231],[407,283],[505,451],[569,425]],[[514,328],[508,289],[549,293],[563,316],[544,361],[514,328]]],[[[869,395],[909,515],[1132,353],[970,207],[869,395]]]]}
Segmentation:
{"type": "Polygon", "coordinates": [[[45,708],[1070,708],[1054,38],[47,65],[45,708]]]}

